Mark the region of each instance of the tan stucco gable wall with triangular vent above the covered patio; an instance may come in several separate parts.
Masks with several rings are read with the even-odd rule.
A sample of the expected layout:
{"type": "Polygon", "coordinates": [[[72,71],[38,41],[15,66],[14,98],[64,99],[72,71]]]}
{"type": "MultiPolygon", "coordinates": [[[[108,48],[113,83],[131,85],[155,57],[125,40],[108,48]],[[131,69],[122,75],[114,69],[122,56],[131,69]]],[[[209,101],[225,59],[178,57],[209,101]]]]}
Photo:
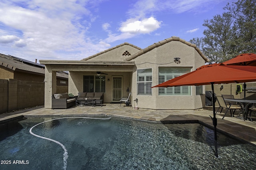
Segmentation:
{"type": "Polygon", "coordinates": [[[130,45],[123,45],[118,48],[112,49],[106,53],[102,53],[98,56],[88,59],[88,61],[124,61],[124,59],[130,57],[122,55],[125,51],[128,51],[131,55],[134,55],[140,50],[130,45]]]}

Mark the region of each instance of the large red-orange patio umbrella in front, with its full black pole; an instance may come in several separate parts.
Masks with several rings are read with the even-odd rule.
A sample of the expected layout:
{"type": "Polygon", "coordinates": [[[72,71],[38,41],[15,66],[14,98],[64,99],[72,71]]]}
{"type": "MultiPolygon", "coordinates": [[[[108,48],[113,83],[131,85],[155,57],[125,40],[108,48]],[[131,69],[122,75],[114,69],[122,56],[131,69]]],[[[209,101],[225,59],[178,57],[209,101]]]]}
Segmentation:
{"type": "MultiPolygon", "coordinates": [[[[224,65],[220,63],[201,66],[192,72],[189,72],[177,78],[173,78],[154,87],[199,86],[211,84],[212,94],[214,94],[214,84],[243,83],[254,81],[256,81],[255,66],[224,65]]],[[[212,95],[212,101],[215,101],[214,95],[212,95]]],[[[214,125],[215,156],[218,157],[216,130],[217,119],[215,115],[214,102],[212,103],[212,106],[212,123],[214,125]]]]}

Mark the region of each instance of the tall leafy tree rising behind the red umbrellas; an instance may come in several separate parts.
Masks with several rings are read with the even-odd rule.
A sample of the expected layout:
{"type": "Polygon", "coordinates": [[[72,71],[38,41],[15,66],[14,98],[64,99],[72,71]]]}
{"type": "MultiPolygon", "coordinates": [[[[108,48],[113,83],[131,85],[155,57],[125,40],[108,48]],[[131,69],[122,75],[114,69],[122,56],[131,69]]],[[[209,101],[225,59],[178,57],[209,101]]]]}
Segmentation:
{"type": "Polygon", "coordinates": [[[211,63],[220,63],[241,53],[256,53],[256,0],[228,3],[222,15],[204,20],[205,37],[190,40],[211,63]]]}

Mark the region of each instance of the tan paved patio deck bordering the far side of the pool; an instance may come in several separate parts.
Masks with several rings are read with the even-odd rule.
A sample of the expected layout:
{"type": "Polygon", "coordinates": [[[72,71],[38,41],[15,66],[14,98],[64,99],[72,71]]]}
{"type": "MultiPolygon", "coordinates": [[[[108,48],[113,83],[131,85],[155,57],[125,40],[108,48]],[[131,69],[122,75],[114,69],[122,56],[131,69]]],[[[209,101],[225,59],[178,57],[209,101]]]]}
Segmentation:
{"type": "MultiPolygon", "coordinates": [[[[68,109],[45,109],[43,106],[39,106],[1,114],[0,123],[23,116],[109,115],[159,123],[201,123],[207,127],[213,128],[210,118],[210,116],[213,116],[212,107],[209,106],[204,109],[196,110],[150,110],[133,109],[133,107],[124,105],[119,106],[120,104],[104,104],[103,107],[77,106],[68,109]]],[[[244,121],[241,117],[230,117],[228,114],[222,119],[223,115],[223,113],[216,115],[218,119],[218,132],[224,133],[237,140],[256,145],[256,117],[252,117],[253,121],[244,121]]]]}

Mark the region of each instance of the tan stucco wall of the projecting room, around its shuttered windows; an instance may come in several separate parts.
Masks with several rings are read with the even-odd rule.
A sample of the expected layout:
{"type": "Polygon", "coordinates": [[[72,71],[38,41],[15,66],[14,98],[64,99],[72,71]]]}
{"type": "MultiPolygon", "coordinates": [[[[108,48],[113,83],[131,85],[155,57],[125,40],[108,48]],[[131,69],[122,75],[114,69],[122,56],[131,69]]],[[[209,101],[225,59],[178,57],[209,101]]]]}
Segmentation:
{"type": "Polygon", "coordinates": [[[132,96],[138,98],[138,107],[147,109],[197,109],[204,107],[204,96],[196,96],[195,86],[191,86],[192,96],[158,96],[158,88],[152,88],[152,96],[137,95],[136,69],[152,68],[152,86],[158,84],[158,67],[189,67],[191,71],[204,65],[205,61],[194,49],[180,41],[170,41],[134,59],[136,67],[132,78],[132,96]],[[180,58],[180,63],[174,62],[180,58]]]}

